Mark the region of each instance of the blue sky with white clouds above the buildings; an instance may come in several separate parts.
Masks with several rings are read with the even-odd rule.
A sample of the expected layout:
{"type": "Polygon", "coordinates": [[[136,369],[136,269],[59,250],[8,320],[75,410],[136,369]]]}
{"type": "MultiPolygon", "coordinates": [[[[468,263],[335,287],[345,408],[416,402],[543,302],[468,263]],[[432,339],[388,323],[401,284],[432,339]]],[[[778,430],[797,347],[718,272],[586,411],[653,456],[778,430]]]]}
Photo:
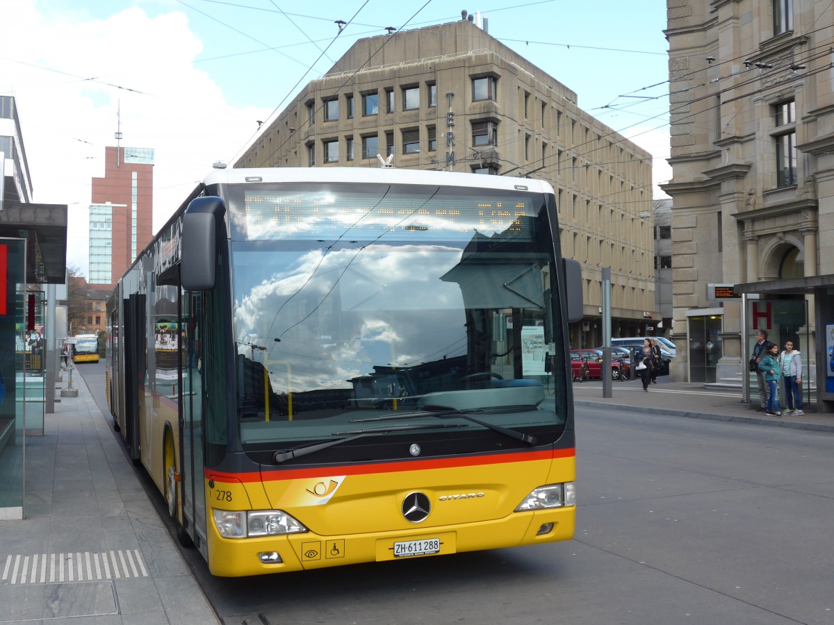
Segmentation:
{"type": "Polygon", "coordinates": [[[671,178],[666,2],[480,2],[15,0],[0,21],[0,95],[17,101],[33,202],[68,205],[67,263],[86,276],[91,178],[117,130],[121,145],[154,150],[156,233],[354,42],[463,9],[651,153],[655,183],[671,178]]]}

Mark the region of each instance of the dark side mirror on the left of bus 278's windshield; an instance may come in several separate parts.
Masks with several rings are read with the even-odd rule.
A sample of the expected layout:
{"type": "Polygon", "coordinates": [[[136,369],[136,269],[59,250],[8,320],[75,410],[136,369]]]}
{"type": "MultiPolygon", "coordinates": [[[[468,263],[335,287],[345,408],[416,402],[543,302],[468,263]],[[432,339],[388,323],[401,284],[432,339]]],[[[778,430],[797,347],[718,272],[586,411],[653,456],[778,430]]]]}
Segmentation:
{"type": "Polygon", "coordinates": [[[214,197],[195,198],[185,210],[179,276],[186,291],[214,288],[218,225],[223,224],[224,213],[223,200],[214,197]]]}

